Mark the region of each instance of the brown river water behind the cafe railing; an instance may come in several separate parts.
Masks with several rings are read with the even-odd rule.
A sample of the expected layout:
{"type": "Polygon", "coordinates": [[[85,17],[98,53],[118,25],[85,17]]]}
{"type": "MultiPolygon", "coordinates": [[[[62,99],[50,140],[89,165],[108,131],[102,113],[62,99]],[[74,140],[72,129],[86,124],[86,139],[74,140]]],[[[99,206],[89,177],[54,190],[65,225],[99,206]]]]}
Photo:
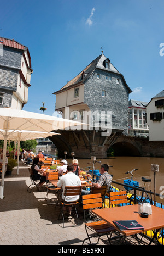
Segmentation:
{"type": "MultiPolygon", "coordinates": [[[[72,159],[67,159],[69,163],[72,162],[72,159]]],[[[138,169],[133,171],[133,180],[139,182],[139,186],[143,187],[144,182],[142,181],[142,177],[147,177],[151,179],[151,182],[146,183],[146,190],[151,190],[154,192],[154,172],[151,171],[151,164],[159,165],[159,172],[156,172],[155,180],[156,180],[156,193],[161,192],[160,187],[164,186],[164,158],[151,158],[151,157],[110,157],[107,159],[97,159],[101,160],[102,164],[112,165],[113,167],[109,167],[109,173],[113,175],[113,181],[118,181],[120,183],[124,183],[125,179],[130,179],[130,174],[125,174],[127,171],[132,171],[134,168],[138,169]]],[[[80,168],[85,168],[85,170],[89,170],[86,168],[87,166],[91,166],[90,159],[78,159],[80,168]]],[[[95,169],[100,169],[100,164],[96,162],[95,169]]],[[[119,187],[119,186],[117,186],[119,187]]],[[[123,189],[122,187],[120,187],[123,189]]],[[[164,190],[164,188],[162,189],[164,190]]],[[[157,200],[157,202],[162,202],[164,204],[164,199],[157,200]]]]}

